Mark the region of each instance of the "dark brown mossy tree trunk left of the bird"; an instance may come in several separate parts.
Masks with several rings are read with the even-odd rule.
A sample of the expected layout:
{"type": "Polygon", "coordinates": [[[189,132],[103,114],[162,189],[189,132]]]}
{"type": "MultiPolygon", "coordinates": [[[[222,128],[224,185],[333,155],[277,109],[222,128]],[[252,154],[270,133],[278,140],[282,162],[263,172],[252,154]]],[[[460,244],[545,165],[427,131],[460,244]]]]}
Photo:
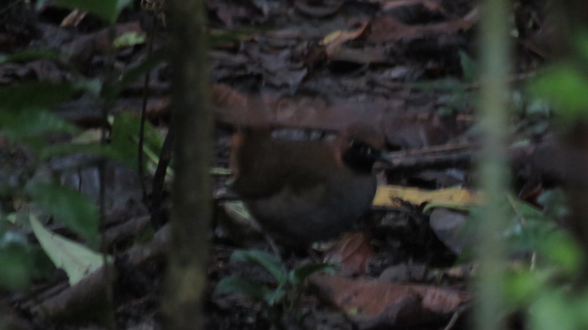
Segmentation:
{"type": "Polygon", "coordinates": [[[212,217],[213,117],[209,106],[206,14],[202,0],[168,0],[172,32],[172,188],[168,272],[161,308],[165,329],[202,329],[202,298],[212,217]]]}

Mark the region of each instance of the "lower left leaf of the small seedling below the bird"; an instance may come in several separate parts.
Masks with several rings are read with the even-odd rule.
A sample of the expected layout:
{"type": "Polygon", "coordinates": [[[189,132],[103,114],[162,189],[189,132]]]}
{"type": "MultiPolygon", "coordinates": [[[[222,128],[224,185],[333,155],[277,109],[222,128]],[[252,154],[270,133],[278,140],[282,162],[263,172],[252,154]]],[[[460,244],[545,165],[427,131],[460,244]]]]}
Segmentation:
{"type": "Polygon", "coordinates": [[[265,285],[255,283],[244,278],[230,276],[225,277],[216,284],[213,295],[242,294],[253,301],[263,301],[273,305],[285,295],[281,289],[272,290],[265,285]]]}

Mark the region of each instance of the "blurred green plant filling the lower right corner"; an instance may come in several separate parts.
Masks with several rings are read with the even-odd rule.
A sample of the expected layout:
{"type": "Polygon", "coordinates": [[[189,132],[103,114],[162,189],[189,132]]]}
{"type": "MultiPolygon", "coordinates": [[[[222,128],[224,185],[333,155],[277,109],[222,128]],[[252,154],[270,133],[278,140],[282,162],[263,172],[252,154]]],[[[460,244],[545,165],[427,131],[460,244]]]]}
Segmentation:
{"type": "Polygon", "coordinates": [[[506,278],[510,311],[523,311],[529,329],[585,329],[588,295],[572,288],[584,255],[570,234],[556,223],[569,213],[561,190],[546,190],[537,202],[543,210],[507,196],[513,220],[501,235],[515,262],[506,278]]]}

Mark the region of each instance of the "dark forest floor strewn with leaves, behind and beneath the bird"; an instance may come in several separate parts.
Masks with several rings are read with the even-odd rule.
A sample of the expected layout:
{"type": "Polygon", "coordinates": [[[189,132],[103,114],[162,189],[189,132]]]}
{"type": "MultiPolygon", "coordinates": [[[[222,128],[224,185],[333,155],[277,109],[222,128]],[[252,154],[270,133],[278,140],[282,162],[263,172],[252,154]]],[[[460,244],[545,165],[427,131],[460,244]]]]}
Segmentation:
{"type": "MultiPolygon", "coordinates": [[[[67,56],[69,66],[50,59],[3,63],[1,86],[71,82],[76,75],[105,79],[108,75],[104,69],[112,57],[106,46],[108,30],[98,18],[51,2],[38,9],[24,1],[8,1],[3,6],[2,53],[56,50],[67,56]]],[[[544,182],[521,157],[527,156],[529,146],[549,136],[549,115],[532,109],[533,102],[520,89],[542,65],[547,50],[533,39],[534,31],[519,24],[530,22],[530,15],[524,13],[536,9],[526,6],[520,5],[511,18],[505,18],[505,24],[515,18],[512,29],[517,32],[509,73],[515,109],[509,127],[513,133],[510,151],[513,186],[520,198],[517,203],[537,204],[537,191],[543,190],[544,182]],[[521,147],[520,141],[527,144],[521,147]]],[[[229,168],[230,137],[236,127],[261,124],[273,127],[286,139],[320,139],[360,122],[385,135],[385,153],[395,161],[377,166],[378,194],[358,231],[313,255],[279,246],[282,261],[276,261],[278,270],[260,267],[263,262],[230,261],[235,250],[272,250],[243,215],[241,204],[218,200],[205,298],[206,328],[468,329],[473,298],[469,257],[475,240],[463,231],[471,219],[463,210],[425,207],[449,201],[456,207],[470,206],[479,198],[472,164],[479,146],[477,2],[208,0],[207,8],[211,97],[217,123],[215,196],[222,196],[229,185],[230,175],[223,170],[229,168]],[[336,261],[338,271],[312,274],[300,283],[284,285],[272,273],[315,264],[315,258],[336,261]],[[258,286],[253,290],[258,291],[253,295],[258,299],[236,293],[239,289],[213,294],[216,284],[229,276],[254,281],[258,286]],[[272,301],[270,294],[283,296],[272,301]]],[[[165,49],[168,24],[165,14],[141,9],[139,1],[125,9],[116,22],[116,35],[141,41],[114,50],[112,76],[145,60],[149,42],[155,51],[165,49]],[[153,15],[158,18],[154,20],[153,15]],[[153,28],[154,36],[150,34],[153,28]],[[139,38],[145,33],[146,39],[139,38]]],[[[122,123],[124,116],[141,113],[146,93],[146,116],[154,134],[159,134],[155,140],[161,143],[171,117],[169,71],[163,62],[151,71],[147,90],[143,77],[122,90],[109,109],[115,120],[112,132],[119,132],[117,120],[122,123]]],[[[99,136],[101,106],[88,93],[76,94],[52,112],[82,127],[86,137],[99,136]]],[[[52,139],[59,142],[71,136],[52,139]]],[[[99,196],[98,168],[79,157],[54,157],[38,163],[25,147],[3,139],[0,156],[2,173],[16,181],[49,171],[61,183],[74,185],[96,200],[99,196]]],[[[120,162],[106,165],[106,246],[117,259],[114,309],[119,329],[161,328],[159,294],[165,249],[153,243],[156,238],[144,239],[149,235],[145,232],[150,226],[152,169],[141,178],[135,168],[120,162]],[[142,180],[148,187],[146,198],[142,180]],[[154,257],[138,257],[136,252],[143,250],[137,249],[145,247],[157,251],[154,257]]],[[[168,184],[166,181],[164,209],[169,207],[168,184]]],[[[18,215],[19,203],[24,203],[19,198],[3,195],[2,210],[18,215]]],[[[49,215],[39,218],[54,233],[76,239],[49,215]]],[[[11,230],[24,233],[36,244],[30,226],[14,224],[11,230]]],[[[53,270],[50,276],[36,278],[25,292],[0,290],[0,309],[5,308],[5,319],[15,329],[100,328],[96,325],[99,318],[93,315],[99,313],[88,312],[99,307],[85,306],[87,292],[74,287],[68,285],[64,272],[53,270]]]]}

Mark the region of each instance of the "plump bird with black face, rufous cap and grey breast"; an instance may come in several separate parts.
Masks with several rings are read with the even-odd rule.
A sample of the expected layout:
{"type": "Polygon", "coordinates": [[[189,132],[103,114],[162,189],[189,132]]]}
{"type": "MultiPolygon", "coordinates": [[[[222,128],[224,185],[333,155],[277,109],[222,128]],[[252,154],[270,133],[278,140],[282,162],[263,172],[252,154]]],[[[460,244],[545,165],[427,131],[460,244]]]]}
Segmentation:
{"type": "Polygon", "coordinates": [[[272,137],[268,127],[232,138],[232,188],[270,237],[296,247],[335,238],[372,205],[384,137],[353,124],[332,140],[272,137]]]}

